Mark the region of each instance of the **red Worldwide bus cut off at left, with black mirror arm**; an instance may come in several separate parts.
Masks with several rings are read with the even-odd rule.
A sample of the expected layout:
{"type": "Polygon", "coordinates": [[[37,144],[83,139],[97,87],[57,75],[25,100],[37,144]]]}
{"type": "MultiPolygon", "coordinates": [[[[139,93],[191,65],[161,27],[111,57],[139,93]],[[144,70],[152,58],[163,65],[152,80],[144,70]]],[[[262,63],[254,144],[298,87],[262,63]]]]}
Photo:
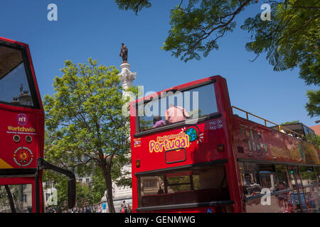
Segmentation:
{"type": "Polygon", "coordinates": [[[43,160],[44,111],[28,45],[0,37],[0,213],[44,212],[43,169],[75,175],[43,160]]]}

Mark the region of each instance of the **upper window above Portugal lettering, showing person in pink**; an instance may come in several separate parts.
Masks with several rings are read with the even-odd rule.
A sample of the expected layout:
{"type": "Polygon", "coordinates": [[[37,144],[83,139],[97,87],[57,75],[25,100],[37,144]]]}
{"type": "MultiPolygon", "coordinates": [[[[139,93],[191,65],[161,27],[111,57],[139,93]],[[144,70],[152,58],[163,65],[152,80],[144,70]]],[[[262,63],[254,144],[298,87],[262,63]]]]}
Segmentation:
{"type": "Polygon", "coordinates": [[[138,105],[139,132],[188,119],[198,119],[218,111],[214,84],[183,92],[167,92],[160,98],[138,105]],[[166,116],[168,118],[166,119],[166,116]]]}

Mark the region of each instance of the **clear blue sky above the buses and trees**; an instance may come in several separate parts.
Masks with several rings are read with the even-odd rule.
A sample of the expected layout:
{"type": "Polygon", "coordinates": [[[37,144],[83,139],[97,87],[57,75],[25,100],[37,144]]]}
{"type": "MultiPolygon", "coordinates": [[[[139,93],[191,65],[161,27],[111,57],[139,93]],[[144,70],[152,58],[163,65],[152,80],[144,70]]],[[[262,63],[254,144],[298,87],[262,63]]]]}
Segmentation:
{"type": "Polygon", "coordinates": [[[153,6],[135,15],[120,11],[113,0],[10,0],[1,1],[0,36],[28,43],[41,96],[53,94],[53,79],[61,76],[65,60],[98,63],[119,69],[121,43],[129,49],[131,71],[137,72],[134,85],[144,92],[163,89],[220,74],[227,79],[233,106],[275,123],[299,120],[314,126],[304,108],[306,86],[299,69],[274,72],[265,56],[255,62],[245,50],[250,35],[242,31],[245,18],[261,13],[262,3],[250,6],[237,18],[237,28],[219,40],[214,50],[200,61],[181,62],[161,50],[169,31],[170,9],[178,0],[151,1],[153,6]],[[48,4],[58,6],[58,21],[48,21],[48,4]]]}

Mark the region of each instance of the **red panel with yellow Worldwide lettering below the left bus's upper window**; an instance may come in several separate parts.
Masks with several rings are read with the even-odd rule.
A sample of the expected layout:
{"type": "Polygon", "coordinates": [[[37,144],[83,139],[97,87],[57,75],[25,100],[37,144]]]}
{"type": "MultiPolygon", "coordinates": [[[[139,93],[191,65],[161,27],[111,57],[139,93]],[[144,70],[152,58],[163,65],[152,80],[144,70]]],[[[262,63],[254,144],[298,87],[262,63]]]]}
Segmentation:
{"type": "Polygon", "coordinates": [[[38,110],[0,104],[0,169],[36,168],[43,157],[43,115],[38,110]],[[27,141],[31,137],[31,142],[27,141]]]}

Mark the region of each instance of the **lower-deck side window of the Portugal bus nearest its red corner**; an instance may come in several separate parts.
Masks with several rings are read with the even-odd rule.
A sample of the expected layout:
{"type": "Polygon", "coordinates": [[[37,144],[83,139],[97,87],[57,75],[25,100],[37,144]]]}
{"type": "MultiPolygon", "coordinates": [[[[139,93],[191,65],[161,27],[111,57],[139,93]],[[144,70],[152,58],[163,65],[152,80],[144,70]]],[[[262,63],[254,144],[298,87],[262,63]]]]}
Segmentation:
{"type": "Polygon", "coordinates": [[[257,177],[257,165],[254,162],[239,162],[239,165],[245,197],[260,194],[261,186],[257,177]]]}

